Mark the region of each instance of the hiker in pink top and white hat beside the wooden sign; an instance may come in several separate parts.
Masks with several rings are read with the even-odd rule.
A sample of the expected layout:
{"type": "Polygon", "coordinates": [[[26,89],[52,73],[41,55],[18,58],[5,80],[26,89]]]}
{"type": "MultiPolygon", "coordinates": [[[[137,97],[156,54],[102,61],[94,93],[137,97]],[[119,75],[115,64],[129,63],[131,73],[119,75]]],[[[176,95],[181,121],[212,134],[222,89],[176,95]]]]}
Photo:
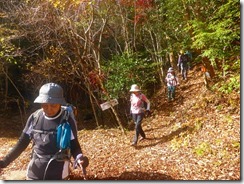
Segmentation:
{"type": "Polygon", "coordinates": [[[135,123],[135,130],[136,130],[132,146],[136,146],[139,135],[141,136],[139,141],[146,139],[146,135],[142,130],[141,124],[144,116],[150,114],[150,101],[143,93],[141,93],[139,86],[136,84],[133,84],[131,86],[130,92],[131,92],[130,112],[132,115],[132,119],[135,123]],[[145,103],[146,103],[146,107],[145,107],[145,103]]]}

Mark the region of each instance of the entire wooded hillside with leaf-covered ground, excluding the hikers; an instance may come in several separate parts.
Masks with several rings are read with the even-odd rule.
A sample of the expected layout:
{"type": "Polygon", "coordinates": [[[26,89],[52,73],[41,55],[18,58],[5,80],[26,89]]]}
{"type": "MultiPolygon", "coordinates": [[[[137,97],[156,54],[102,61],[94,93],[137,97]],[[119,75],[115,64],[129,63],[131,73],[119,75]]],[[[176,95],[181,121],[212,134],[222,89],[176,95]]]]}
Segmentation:
{"type": "MultiPolygon", "coordinates": [[[[240,179],[240,22],[233,0],[1,0],[0,159],[39,108],[40,87],[54,82],[78,109],[90,179],[240,179]],[[180,79],[171,103],[169,67],[180,79]],[[132,84],[152,101],[149,139],[137,148],[132,84]],[[110,100],[119,105],[103,111],[110,100]]],[[[24,154],[2,178],[26,168],[24,154]]]]}

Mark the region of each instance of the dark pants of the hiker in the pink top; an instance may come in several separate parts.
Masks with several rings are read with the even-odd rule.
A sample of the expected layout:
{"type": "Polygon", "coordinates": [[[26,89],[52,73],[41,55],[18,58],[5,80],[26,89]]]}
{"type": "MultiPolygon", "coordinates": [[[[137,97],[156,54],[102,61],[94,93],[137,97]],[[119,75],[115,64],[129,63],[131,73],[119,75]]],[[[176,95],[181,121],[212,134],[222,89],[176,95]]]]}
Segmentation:
{"type": "Polygon", "coordinates": [[[141,127],[141,123],[144,118],[144,113],[132,114],[132,118],[133,118],[133,121],[135,122],[135,129],[136,129],[136,134],[134,136],[133,142],[137,143],[139,135],[141,135],[143,138],[146,138],[146,135],[141,127]]]}

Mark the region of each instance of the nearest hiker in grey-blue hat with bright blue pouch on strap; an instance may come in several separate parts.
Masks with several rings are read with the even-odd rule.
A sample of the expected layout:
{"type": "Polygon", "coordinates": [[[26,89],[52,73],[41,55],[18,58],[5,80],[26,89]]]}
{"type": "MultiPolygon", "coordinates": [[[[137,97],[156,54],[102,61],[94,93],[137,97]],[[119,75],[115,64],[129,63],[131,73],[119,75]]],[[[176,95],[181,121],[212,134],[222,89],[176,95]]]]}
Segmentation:
{"type": "Polygon", "coordinates": [[[63,89],[55,83],[44,84],[34,103],[41,109],[32,113],[13,149],[0,160],[0,168],[7,167],[32,145],[31,161],[27,168],[28,180],[62,180],[69,177],[70,158],[74,167],[81,167],[86,179],[87,157],[83,156],[77,138],[77,125],[72,108],[66,104],[63,89]]]}

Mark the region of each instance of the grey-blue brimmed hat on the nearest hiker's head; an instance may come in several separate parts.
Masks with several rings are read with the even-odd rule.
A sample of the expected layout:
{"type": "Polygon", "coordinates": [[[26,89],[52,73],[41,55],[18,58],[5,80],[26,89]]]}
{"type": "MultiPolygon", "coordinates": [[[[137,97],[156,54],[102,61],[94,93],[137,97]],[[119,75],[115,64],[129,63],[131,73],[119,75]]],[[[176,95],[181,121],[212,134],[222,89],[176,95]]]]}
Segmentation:
{"type": "Polygon", "coordinates": [[[44,84],[39,90],[39,96],[34,103],[50,103],[65,105],[66,101],[63,96],[63,89],[55,83],[44,84]]]}

